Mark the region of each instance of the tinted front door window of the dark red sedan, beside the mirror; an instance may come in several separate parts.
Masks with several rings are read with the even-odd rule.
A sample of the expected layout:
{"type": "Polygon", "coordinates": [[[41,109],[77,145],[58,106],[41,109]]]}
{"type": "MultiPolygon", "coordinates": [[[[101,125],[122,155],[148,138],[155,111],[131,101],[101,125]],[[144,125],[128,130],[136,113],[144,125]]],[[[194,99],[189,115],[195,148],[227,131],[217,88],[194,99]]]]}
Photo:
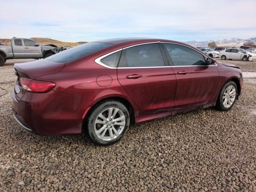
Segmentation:
{"type": "Polygon", "coordinates": [[[164,43],[164,47],[172,59],[173,66],[192,66],[206,64],[204,56],[192,48],[171,43],[164,43]]]}

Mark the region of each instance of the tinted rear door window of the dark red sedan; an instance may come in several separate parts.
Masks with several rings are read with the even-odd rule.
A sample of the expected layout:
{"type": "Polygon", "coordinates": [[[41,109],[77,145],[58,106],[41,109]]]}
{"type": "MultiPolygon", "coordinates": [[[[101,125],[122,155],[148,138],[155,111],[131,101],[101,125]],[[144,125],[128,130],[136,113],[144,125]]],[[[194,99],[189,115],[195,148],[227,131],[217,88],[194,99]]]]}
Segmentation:
{"type": "Polygon", "coordinates": [[[125,49],[123,67],[165,66],[158,44],[144,44],[125,49]]]}

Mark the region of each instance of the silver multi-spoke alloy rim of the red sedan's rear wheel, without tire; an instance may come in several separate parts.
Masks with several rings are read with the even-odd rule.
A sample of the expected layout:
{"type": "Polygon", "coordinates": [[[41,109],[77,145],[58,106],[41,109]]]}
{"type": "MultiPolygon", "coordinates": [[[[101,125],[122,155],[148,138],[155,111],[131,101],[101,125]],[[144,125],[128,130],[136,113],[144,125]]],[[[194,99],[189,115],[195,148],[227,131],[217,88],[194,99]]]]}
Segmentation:
{"type": "Polygon", "coordinates": [[[94,122],[96,136],[104,141],[111,141],[117,138],[126,125],[126,118],[122,110],[110,107],[103,110],[94,122]]]}

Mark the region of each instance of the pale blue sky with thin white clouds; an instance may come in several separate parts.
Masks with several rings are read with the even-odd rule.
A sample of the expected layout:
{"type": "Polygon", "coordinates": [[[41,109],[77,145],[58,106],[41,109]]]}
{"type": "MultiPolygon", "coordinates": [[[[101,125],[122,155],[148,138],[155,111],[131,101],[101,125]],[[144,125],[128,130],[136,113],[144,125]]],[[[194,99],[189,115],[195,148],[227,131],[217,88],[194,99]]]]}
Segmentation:
{"type": "Polygon", "coordinates": [[[0,38],[256,37],[256,0],[0,0],[0,38]]]}

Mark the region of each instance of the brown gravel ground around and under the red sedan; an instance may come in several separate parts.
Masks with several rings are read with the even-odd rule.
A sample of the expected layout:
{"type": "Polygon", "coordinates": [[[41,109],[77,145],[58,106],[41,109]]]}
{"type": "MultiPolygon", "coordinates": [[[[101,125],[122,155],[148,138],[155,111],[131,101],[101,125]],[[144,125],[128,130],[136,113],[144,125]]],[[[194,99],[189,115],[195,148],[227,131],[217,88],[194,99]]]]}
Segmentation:
{"type": "MultiPolygon", "coordinates": [[[[256,72],[252,62],[224,62],[256,72]]],[[[24,130],[11,114],[15,80],[11,63],[0,67],[0,82],[13,81],[0,84],[7,90],[0,97],[1,192],[256,191],[255,79],[245,79],[228,112],[209,108],[132,126],[107,147],[24,130]]]]}

